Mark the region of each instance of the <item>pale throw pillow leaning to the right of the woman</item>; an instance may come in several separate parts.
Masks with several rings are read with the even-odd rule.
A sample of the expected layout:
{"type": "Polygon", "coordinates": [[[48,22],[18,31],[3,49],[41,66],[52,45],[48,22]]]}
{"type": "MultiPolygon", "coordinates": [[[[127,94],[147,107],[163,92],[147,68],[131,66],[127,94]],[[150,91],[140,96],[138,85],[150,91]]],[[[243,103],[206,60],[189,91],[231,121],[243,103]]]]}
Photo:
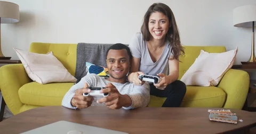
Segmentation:
{"type": "Polygon", "coordinates": [[[187,86],[216,86],[223,75],[234,65],[237,47],[222,53],[209,53],[201,50],[193,65],[180,81],[187,86]]]}

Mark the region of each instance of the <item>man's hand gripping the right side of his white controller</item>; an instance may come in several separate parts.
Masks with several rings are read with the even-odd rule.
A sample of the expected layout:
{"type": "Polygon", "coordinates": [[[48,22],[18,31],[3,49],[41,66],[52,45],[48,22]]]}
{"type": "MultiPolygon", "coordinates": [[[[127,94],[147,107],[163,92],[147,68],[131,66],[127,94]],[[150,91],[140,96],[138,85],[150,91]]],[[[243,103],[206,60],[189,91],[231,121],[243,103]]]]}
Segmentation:
{"type": "Polygon", "coordinates": [[[100,93],[109,93],[109,95],[99,99],[97,103],[105,102],[105,105],[110,109],[121,109],[123,106],[129,107],[132,104],[130,96],[120,94],[111,83],[108,83],[106,88],[102,89],[100,93]]]}

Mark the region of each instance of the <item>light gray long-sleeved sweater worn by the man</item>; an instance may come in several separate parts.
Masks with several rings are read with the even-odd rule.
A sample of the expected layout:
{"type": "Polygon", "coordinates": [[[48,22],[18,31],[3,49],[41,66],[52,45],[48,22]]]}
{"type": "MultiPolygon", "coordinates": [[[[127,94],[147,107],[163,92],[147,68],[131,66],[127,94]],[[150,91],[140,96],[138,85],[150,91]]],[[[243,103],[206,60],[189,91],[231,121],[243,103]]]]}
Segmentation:
{"type": "MultiPolygon", "coordinates": [[[[70,109],[76,109],[76,107],[71,105],[71,100],[75,95],[76,90],[83,88],[85,83],[87,83],[90,87],[105,87],[110,82],[107,81],[104,77],[99,77],[95,74],[88,74],[84,76],[81,79],[81,81],[79,81],[77,84],[73,85],[70,88],[70,90],[63,97],[62,105],[70,109]]],[[[138,107],[145,107],[148,105],[150,100],[150,87],[147,82],[145,82],[145,84],[141,86],[134,85],[133,83],[128,82],[125,84],[115,82],[111,83],[117,88],[120,94],[127,94],[131,97],[132,105],[127,108],[123,107],[124,109],[134,109],[138,107]]],[[[97,103],[96,101],[98,99],[99,98],[94,98],[94,101],[92,102],[91,106],[105,105],[103,103],[97,103]]]]}

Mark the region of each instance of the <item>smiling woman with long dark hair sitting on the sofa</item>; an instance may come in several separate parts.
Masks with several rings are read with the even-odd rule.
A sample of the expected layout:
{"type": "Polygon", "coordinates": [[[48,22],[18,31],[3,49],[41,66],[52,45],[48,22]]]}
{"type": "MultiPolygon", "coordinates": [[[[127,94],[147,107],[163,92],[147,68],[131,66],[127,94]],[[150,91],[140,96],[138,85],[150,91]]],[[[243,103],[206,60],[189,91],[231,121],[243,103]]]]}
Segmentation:
{"type": "Polygon", "coordinates": [[[154,3],[148,8],[141,33],[129,44],[132,52],[129,82],[141,85],[139,75],[159,76],[161,82],[150,85],[150,95],[167,97],[163,107],[178,107],[186,85],[178,80],[179,56],[184,53],[175,17],[169,6],[154,3]]]}

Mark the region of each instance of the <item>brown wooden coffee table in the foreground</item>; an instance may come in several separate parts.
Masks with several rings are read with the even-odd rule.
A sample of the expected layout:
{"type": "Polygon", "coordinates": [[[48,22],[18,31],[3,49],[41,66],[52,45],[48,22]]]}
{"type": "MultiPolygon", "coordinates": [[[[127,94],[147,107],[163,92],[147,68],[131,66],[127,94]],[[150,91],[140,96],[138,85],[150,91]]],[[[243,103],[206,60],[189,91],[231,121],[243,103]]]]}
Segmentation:
{"type": "MultiPolygon", "coordinates": [[[[217,108],[214,108],[218,110],[217,108]]],[[[110,110],[92,106],[71,110],[44,106],[14,115],[0,122],[1,133],[21,133],[60,120],[127,133],[221,133],[256,126],[256,113],[232,110],[243,122],[238,124],[209,120],[208,108],[138,108],[110,110]]]]}

